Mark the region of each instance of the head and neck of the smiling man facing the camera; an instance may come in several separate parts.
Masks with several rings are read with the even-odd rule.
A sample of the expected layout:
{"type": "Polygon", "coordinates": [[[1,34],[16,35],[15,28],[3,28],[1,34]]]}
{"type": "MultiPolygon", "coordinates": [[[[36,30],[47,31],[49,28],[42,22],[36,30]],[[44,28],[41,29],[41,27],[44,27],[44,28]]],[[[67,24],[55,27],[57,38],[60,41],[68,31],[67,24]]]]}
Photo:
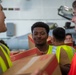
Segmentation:
{"type": "Polygon", "coordinates": [[[32,25],[31,32],[35,46],[42,51],[43,54],[47,53],[49,49],[49,45],[47,43],[49,26],[44,22],[36,22],[32,25]]]}

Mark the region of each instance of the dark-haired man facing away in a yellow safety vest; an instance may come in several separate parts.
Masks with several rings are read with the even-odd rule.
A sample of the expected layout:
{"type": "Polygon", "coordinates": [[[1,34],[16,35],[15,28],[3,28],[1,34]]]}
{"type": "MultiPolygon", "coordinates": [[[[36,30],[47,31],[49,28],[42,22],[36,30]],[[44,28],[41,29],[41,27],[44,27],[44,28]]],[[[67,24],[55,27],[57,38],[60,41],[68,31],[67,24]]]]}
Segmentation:
{"type": "Polygon", "coordinates": [[[69,72],[71,60],[74,55],[74,48],[64,45],[64,40],[65,30],[61,27],[54,29],[52,38],[54,46],[50,46],[47,54],[56,54],[62,75],[67,75],[69,72]]]}

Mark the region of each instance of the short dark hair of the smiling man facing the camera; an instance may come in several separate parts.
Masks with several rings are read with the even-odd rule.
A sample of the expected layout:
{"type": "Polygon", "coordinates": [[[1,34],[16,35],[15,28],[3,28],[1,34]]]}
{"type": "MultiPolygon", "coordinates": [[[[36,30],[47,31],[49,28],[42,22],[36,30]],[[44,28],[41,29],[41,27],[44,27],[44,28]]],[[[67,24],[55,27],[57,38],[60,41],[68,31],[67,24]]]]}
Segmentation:
{"type": "Polygon", "coordinates": [[[43,27],[46,29],[47,34],[49,33],[49,26],[44,22],[36,22],[31,26],[31,32],[33,33],[33,29],[35,27],[43,27]]]}

